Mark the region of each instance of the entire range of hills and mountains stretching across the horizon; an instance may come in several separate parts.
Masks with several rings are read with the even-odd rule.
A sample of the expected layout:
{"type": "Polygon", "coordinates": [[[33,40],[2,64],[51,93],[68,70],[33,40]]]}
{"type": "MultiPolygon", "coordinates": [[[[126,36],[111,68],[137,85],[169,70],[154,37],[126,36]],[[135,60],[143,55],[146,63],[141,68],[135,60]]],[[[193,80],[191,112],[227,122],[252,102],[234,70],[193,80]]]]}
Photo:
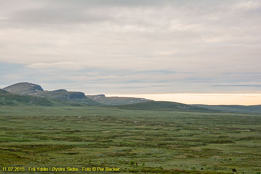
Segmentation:
{"type": "Polygon", "coordinates": [[[65,89],[47,91],[40,85],[21,82],[0,89],[0,105],[8,106],[105,106],[131,110],[217,111],[229,113],[261,113],[261,105],[203,105],[154,101],[135,97],[85,95],[65,89]],[[112,105],[112,106],[108,106],[112,105]]]}

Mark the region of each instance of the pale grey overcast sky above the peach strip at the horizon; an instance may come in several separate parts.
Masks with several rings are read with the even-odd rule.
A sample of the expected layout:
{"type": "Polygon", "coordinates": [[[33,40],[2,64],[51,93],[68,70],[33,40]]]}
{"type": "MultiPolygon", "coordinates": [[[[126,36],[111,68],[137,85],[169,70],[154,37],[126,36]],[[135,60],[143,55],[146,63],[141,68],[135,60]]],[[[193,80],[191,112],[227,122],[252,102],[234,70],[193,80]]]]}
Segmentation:
{"type": "Polygon", "coordinates": [[[261,93],[260,21],[260,0],[0,0],[0,88],[261,93]]]}

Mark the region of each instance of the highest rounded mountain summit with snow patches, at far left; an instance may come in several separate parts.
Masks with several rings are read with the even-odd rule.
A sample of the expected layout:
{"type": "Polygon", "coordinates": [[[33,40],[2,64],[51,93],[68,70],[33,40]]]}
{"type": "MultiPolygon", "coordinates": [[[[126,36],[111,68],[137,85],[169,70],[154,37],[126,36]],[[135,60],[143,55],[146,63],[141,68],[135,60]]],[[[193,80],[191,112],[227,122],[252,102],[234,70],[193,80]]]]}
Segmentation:
{"type": "Polygon", "coordinates": [[[28,82],[13,84],[3,88],[3,90],[6,90],[14,94],[32,94],[32,93],[38,93],[40,91],[44,91],[40,85],[36,85],[28,82]]]}

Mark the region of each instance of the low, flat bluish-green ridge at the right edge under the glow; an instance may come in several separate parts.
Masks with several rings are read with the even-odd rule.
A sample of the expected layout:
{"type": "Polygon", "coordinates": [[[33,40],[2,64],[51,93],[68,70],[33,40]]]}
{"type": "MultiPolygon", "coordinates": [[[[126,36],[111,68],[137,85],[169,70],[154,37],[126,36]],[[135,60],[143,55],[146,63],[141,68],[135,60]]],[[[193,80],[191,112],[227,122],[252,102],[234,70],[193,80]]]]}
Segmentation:
{"type": "Polygon", "coordinates": [[[199,106],[207,109],[217,110],[220,112],[261,113],[261,105],[243,106],[243,105],[192,104],[191,106],[199,106]]]}

